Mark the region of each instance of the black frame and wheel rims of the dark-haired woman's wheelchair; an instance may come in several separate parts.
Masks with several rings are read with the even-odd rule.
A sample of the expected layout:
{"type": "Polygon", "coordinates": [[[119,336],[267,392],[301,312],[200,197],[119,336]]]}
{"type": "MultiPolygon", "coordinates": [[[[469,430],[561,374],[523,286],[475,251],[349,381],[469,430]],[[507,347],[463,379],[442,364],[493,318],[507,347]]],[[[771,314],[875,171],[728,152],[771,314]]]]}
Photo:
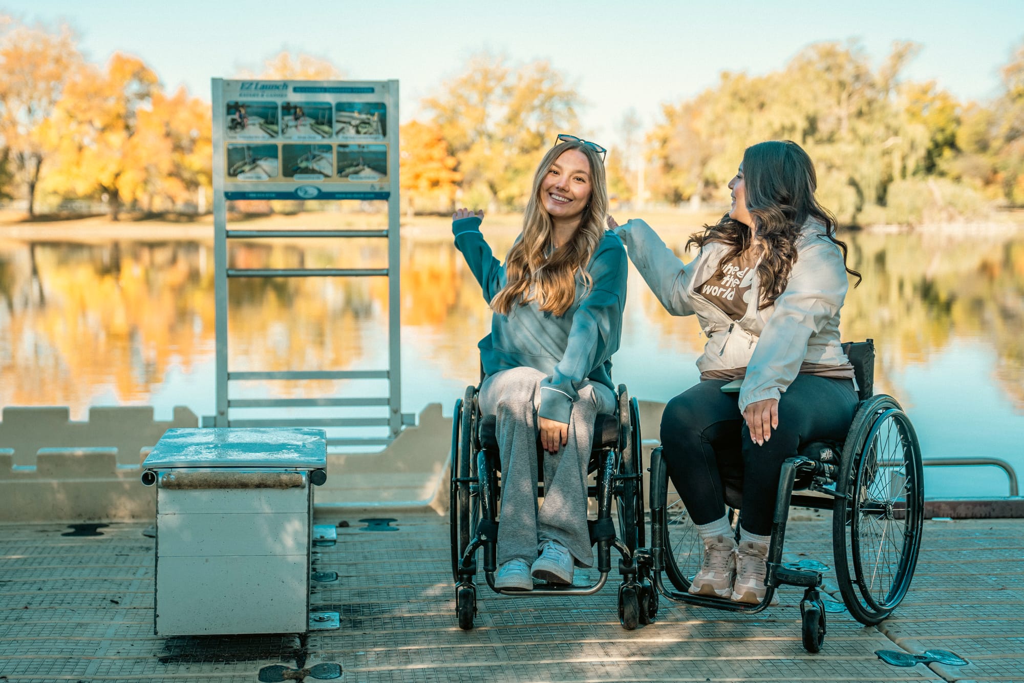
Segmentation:
{"type": "MultiPolygon", "coordinates": [[[[866,347],[861,350],[862,360],[873,363],[873,340],[867,339],[861,345],[866,347]]],[[[782,562],[791,506],[833,511],[833,550],[837,582],[843,602],[858,621],[865,625],[878,624],[899,605],[909,589],[921,547],[924,520],[924,473],[921,448],[913,427],[899,403],[890,396],[871,396],[873,365],[854,361],[852,354],[851,361],[854,362],[857,371],[861,400],[842,446],[821,442],[810,443],[802,448],[798,456],[787,458],[782,464],[772,518],[765,577],[767,590],[764,599],[757,605],[686,592],[692,576],[686,576],[688,572],[679,568],[672,548],[669,547],[671,539],[668,537],[668,469],[662,457],[662,448],[654,449],[650,463],[651,545],[650,548],[639,549],[635,554],[636,563],[640,568],[642,621],[653,620],[657,612],[658,593],[674,602],[756,613],[769,606],[778,587],[800,586],[804,588],[804,597],[800,603],[804,647],[809,652],[819,651],[825,635],[825,609],[820,595],[822,572],[782,562]],[[894,425],[896,428],[895,439],[900,446],[902,459],[870,461],[872,452],[874,457],[878,457],[877,442],[887,425],[894,425]],[[905,504],[896,503],[898,494],[889,501],[871,500],[870,489],[876,483],[874,478],[883,469],[894,466],[903,469],[901,491],[906,494],[905,504]],[[801,484],[818,495],[794,495],[795,488],[801,484]],[[866,575],[868,572],[860,557],[860,515],[874,516],[884,520],[887,528],[890,521],[899,518],[906,520],[906,531],[902,537],[896,576],[883,599],[873,594],[873,575],[868,580],[866,575]],[[666,586],[663,571],[669,574],[673,588],[666,586]]],[[[885,438],[886,444],[891,443],[892,428],[886,433],[885,438]]],[[[889,482],[889,493],[893,493],[892,482],[889,482]]],[[[695,529],[692,531],[695,536],[695,529]]],[[[702,544],[700,546],[699,556],[702,557],[702,544]]],[[[687,566],[692,570],[699,567],[699,562],[698,558],[695,563],[691,561],[687,566]]]]}

